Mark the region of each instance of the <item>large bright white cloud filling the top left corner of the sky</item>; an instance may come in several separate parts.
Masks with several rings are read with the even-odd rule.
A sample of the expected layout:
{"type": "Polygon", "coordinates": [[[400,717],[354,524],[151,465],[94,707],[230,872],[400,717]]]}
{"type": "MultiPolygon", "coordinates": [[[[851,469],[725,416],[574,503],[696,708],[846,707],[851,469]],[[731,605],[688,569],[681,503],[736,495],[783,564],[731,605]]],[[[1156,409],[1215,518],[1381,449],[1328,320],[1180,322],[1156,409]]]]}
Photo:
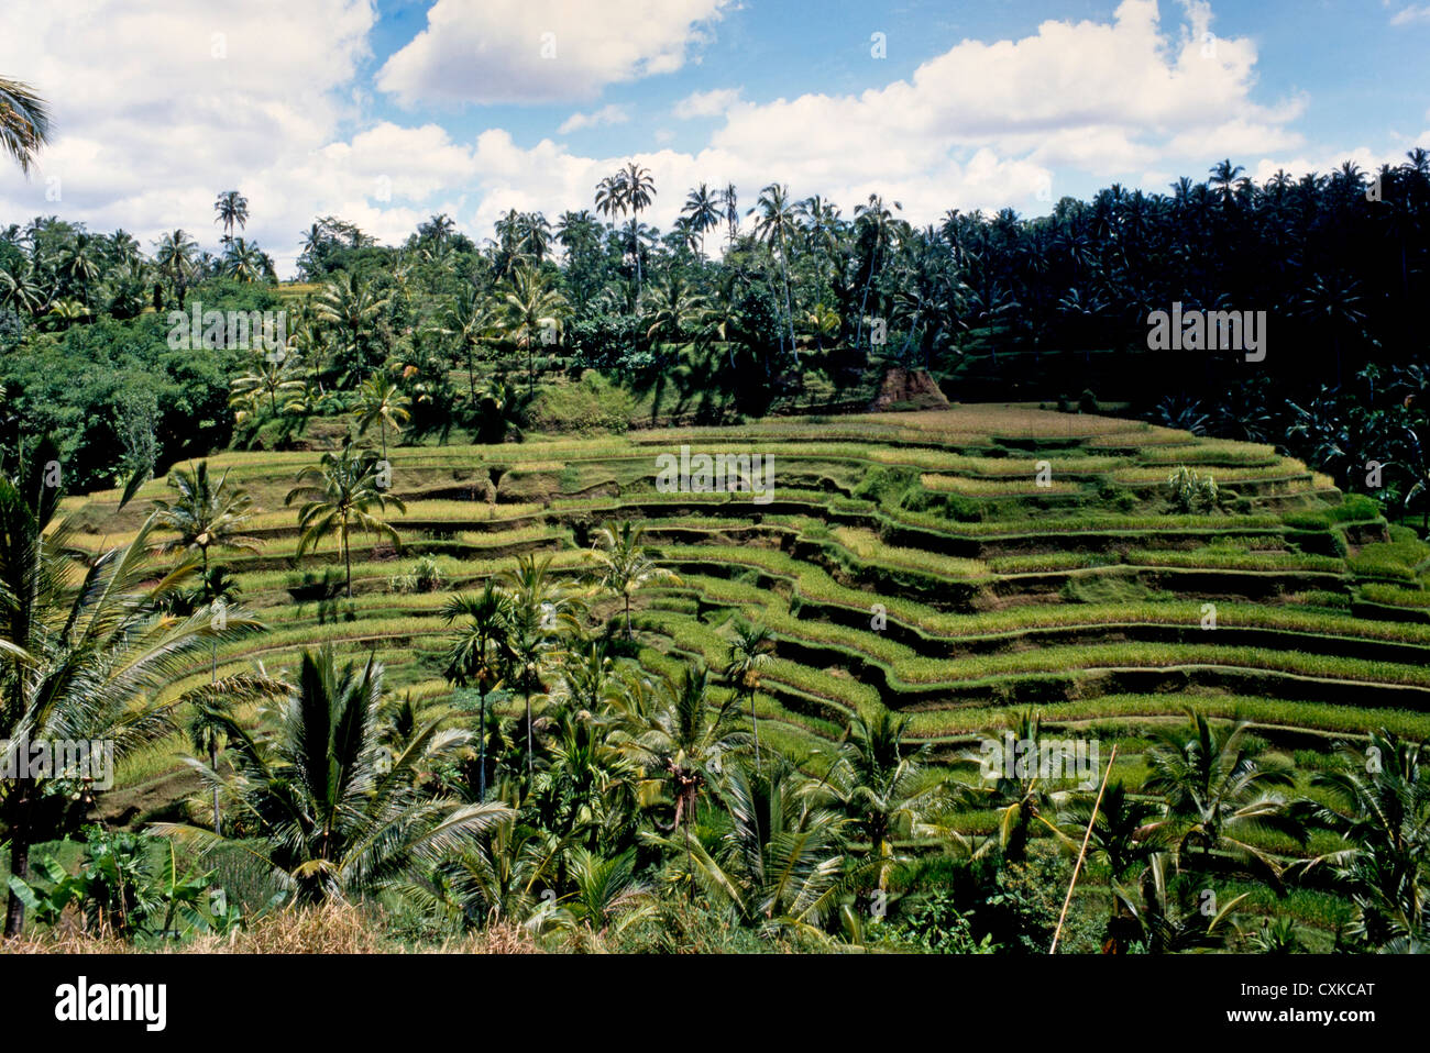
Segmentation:
{"type": "Polygon", "coordinates": [[[0,69],[49,100],[53,144],[33,180],[0,166],[0,216],[123,226],[146,243],[182,226],[216,247],[213,199],[237,189],[246,233],[289,260],[315,211],[349,200],[297,173],[347,117],[339,89],[372,23],[370,0],[7,0],[0,69]]]}

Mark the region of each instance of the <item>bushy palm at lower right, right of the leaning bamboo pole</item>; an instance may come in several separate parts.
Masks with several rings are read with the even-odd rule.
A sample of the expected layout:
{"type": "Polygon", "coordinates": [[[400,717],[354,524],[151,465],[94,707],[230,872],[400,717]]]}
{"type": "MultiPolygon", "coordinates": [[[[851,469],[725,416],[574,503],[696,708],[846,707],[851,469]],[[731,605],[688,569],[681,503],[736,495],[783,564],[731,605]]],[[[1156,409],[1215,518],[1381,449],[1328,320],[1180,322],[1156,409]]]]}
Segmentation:
{"type": "Polygon", "coordinates": [[[1264,753],[1250,736],[1248,720],[1218,727],[1203,713],[1191,713],[1184,729],[1158,729],[1144,789],[1167,799],[1178,856],[1190,846],[1203,856],[1226,849],[1278,879],[1270,853],[1244,836],[1268,830],[1304,844],[1306,829],[1277,793],[1293,784],[1290,762],[1264,753]]]}

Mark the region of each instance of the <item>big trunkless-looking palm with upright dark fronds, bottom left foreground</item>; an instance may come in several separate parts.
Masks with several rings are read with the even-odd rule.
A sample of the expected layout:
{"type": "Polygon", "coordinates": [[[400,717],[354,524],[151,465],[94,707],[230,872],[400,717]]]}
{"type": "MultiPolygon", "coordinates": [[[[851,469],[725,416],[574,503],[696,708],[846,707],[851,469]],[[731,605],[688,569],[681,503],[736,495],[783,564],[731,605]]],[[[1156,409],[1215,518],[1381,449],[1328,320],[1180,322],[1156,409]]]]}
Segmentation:
{"type": "MultiPolygon", "coordinates": [[[[456,850],[480,852],[480,836],[508,819],[500,803],[462,804],[420,789],[423,769],[465,744],[463,732],[432,720],[413,730],[390,763],[382,743],[382,664],[337,667],[330,650],[303,652],[297,683],[272,730],[252,733],[217,714],[235,774],[190,762],[229,790],[246,829],[296,903],[352,902],[393,886],[456,850]]],[[[156,832],[202,846],[222,836],[157,823],[156,832]]]]}

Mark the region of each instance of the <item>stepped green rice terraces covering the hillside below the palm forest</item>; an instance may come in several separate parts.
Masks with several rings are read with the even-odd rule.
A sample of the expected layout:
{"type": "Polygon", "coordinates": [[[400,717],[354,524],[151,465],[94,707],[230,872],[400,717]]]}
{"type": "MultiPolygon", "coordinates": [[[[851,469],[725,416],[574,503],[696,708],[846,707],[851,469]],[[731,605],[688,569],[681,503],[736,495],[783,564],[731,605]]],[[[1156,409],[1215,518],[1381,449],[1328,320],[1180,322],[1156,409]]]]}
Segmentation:
{"type": "MultiPolygon", "coordinates": [[[[214,559],[267,626],[219,650],[220,674],[285,667],[319,642],[376,649],[389,687],[443,704],[450,592],[526,552],[581,574],[592,530],[633,519],[679,576],[636,593],[641,660],[718,667],[735,619],[764,623],[778,646],[756,710],[795,756],[849,713],[882,709],[912,714],[912,737],[944,757],[1011,706],[1054,726],[1093,722],[1127,742],[1120,776],[1134,783],[1138,727],[1188,706],[1240,712],[1291,747],[1430,730],[1430,549],[1267,447],[960,406],[389,456],[402,547],[355,542],[350,602],[332,544],[295,560],[283,499],[316,454],[212,460],[260,510],[246,529],[257,549],[214,559]],[[774,457],[771,500],[658,491],[656,457],[682,444],[774,457]],[[1181,466],[1216,480],[1218,510],[1175,507],[1168,476],[1181,466]]],[[[117,493],[72,500],[80,540],[124,540],[163,490],[150,481],[123,511],[117,493]]],[[[593,617],[615,610],[598,600],[593,617]]],[[[172,690],[209,673],[202,663],[172,690]]],[[[120,786],[153,790],[144,809],[180,793],[183,749],[160,743],[120,786]]],[[[134,813],[133,797],[116,800],[134,813]]]]}

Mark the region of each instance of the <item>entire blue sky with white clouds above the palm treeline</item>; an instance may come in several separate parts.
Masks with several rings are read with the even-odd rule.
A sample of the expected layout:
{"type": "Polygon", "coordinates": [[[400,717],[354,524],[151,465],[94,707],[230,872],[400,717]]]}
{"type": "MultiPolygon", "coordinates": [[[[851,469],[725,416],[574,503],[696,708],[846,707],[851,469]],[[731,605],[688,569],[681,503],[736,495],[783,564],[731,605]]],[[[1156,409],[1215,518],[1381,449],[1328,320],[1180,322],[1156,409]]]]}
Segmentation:
{"type": "Polygon", "coordinates": [[[702,180],[1037,214],[1227,156],[1396,161],[1430,146],[1427,47],[1406,0],[7,0],[0,73],[56,137],[31,179],[0,171],[0,223],[216,244],[237,187],[286,270],[315,216],[396,241],[442,210],[482,239],[509,207],[591,207],[629,156],[658,224],[702,180]]]}

